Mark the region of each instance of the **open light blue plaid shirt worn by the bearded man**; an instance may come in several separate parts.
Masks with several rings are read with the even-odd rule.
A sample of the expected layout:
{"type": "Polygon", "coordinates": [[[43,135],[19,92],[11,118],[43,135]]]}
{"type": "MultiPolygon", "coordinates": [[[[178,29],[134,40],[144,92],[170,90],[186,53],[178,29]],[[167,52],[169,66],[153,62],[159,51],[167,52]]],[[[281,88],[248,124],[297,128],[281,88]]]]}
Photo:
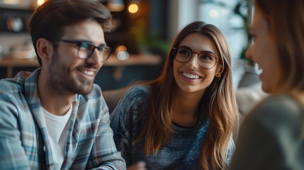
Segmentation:
{"type": "MultiPolygon", "coordinates": [[[[49,135],[33,74],[0,81],[0,169],[54,169],[49,135]]],[[[62,169],[126,169],[116,150],[99,86],[76,94],[62,169]]]]}

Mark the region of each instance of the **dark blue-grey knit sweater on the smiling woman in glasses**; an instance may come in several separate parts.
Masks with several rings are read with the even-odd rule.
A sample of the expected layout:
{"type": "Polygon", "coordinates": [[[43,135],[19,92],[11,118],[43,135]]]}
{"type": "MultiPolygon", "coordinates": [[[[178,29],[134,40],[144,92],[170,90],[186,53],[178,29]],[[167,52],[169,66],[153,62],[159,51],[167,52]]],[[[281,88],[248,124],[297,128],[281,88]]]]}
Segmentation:
{"type": "MultiPolygon", "coordinates": [[[[140,147],[142,143],[132,145],[145,124],[145,117],[140,121],[137,121],[137,118],[147,107],[149,95],[147,86],[134,86],[126,91],[111,114],[114,141],[127,166],[145,161],[147,169],[200,169],[198,159],[208,130],[208,121],[204,120],[202,115],[193,128],[185,128],[173,123],[174,133],[171,135],[171,140],[159,150],[157,155],[145,156],[140,147]]],[[[231,140],[227,152],[227,164],[230,163],[234,150],[235,144],[231,140]]]]}

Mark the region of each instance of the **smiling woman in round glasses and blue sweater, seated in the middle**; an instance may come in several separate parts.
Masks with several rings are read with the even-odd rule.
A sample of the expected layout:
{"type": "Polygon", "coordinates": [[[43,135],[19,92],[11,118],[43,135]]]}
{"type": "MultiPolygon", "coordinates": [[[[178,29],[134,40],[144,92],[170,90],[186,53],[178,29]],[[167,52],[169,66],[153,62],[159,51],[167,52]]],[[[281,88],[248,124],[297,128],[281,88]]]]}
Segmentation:
{"type": "Polygon", "coordinates": [[[201,21],[186,26],[154,81],[136,84],[111,114],[128,169],[227,169],[237,106],[223,33],[201,21]],[[133,166],[131,166],[133,165],[133,166]]]}

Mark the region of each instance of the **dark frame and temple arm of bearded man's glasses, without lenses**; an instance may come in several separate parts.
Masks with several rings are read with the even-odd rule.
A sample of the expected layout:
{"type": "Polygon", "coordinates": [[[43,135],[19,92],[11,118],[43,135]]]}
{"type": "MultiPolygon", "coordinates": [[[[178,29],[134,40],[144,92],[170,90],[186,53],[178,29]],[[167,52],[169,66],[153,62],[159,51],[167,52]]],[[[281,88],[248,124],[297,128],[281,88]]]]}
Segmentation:
{"type": "Polygon", "coordinates": [[[64,40],[64,39],[60,39],[60,40],[52,40],[52,41],[57,41],[57,42],[65,42],[65,43],[67,43],[67,44],[74,44],[74,45],[77,45],[77,55],[78,55],[78,57],[79,57],[79,49],[80,49],[80,47],[81,47],[81,44],[82,43],[86,43],[87,45],[91,45],[93,48],[91,49],[91,52],[89,52],[88,53],[88,55],[86,55],[86,57],[79,57],[79,58],[81,58],[81,59],[84,59],[84,60],[87,60],[87,59],[89,59],[92,55],[93,55],[93,53],[94,53],[94,50],[97,48],[97,50],[99,51],[99,52],[101,52],[103,49],[108,49],[108,50],[110,50],[110,52],[109,52],[109,54],[108,54],[108,56],[104,59],[104,60],[102,60],[101,62],[106,62],[106,60],[108,60],[108,58],[111,56],[111,54],[112,54],[112,52],[113,52],[113,49],[111,48],[111,47],[108,47],[108,46],[106,46],[106,45],[103,45],[103,46],[96,46],[96,45],[94,45],[94,44],[92,44],[91,42],[88,42],[88,41],[86,41],[86,40],[64,40]]]}

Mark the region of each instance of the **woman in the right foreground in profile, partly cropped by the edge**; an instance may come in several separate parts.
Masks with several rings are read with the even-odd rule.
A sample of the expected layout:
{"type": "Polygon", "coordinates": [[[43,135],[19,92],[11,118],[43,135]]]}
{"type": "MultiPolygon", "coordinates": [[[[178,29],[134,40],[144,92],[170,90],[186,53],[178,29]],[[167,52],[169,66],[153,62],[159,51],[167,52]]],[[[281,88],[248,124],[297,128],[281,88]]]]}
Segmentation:
{"type": "Polygon", "coordinates": [[[271,96],[245,118],[232,169],[304,169],[304,1],[256,0],[247,57],[271,96]]]}

